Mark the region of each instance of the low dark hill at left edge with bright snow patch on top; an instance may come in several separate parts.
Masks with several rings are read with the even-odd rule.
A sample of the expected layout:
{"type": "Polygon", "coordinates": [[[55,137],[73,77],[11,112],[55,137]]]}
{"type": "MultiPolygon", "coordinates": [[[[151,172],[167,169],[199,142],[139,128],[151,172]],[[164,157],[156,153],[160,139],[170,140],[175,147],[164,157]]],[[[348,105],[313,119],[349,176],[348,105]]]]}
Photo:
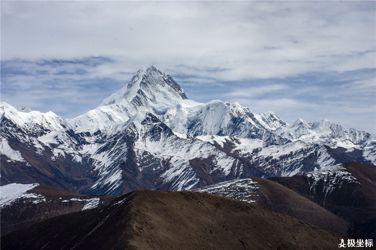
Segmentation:
{"type": "Polygon", "coordinates": [[[1,187],[1,235],[70,212],[95,208],[118,196],[88,196],[43,184],[1,187]]]}

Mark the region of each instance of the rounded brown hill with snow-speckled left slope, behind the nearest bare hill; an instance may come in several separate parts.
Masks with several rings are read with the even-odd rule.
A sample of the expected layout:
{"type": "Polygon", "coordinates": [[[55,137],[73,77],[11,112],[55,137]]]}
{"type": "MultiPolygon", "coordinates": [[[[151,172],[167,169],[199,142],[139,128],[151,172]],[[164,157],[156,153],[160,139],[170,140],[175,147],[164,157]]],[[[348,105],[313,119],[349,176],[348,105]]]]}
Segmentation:
{"type": "Polygon", "coordinates": [[[347,235],[349,229],[349,225],[342,218],[268,179],[238,179],[194,191],[250,202],[343,235],[347,235]]]}

